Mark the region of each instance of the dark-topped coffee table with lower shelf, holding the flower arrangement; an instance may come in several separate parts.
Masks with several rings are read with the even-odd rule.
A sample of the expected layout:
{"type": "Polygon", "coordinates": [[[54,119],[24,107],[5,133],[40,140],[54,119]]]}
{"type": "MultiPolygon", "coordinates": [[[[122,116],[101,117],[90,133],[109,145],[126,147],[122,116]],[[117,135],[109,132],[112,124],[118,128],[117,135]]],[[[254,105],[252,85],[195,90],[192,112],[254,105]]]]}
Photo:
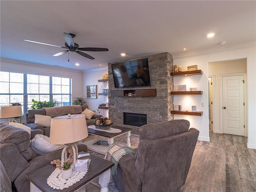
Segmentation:
{"type": "Polygon", "coordinates": [[[114,138],[118,137],[120,135],[126,134],[126,143],[129,147],[131,146],[130,135],[131,135],[132,129],[121,127],[121,126],[114,126],[114,125],[112,125],[111,128],[120,129],[121,132],[120,133],[108,133],[108,132],[98,131],[98,130],[88,128],[88,134],[96,135],[96,136],[100,136],[100,137],[88,140],[88,141],[84,142],[84,144],[87,145],[89,150],[105,155],[108,150],[108,147],[114,143],[114,138]],[[94,145],[92,145],[95,142],[97,142],[98,140],[107,140],[109,146],[94,146],[94,145]]]}

